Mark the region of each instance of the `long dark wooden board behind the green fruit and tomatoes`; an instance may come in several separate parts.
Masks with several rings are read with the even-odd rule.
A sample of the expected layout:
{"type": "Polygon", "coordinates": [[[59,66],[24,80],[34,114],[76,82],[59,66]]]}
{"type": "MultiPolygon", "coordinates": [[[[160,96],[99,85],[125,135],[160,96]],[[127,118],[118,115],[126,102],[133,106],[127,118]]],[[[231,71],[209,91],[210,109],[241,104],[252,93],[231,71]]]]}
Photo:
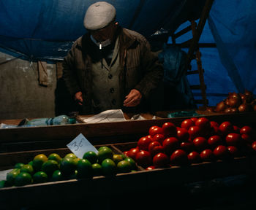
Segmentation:
{"type": "MultiPolygon", "coordinates": [[[[66,145],[80,133],[83,133],[83,135],[95,145],[138,141],[141,136],[148,134],[148,129],[152,125],[162,126],[163,123],[172,122],[176,126],[180,126],[181,122],[188,118],[166,118],[169,113],[170,112],[167,111],[157,112],[157,116],[165,117],[158,120],[0,129],[0,151],[11,152],[66,147],[66,145]]],[[[218,123],[224,121],[230,121],[235,125],[255,125],[256,123],[256,112],[223,114],[197,111],[197,113],[208,117],[209,120],[215,120],[218,123]]]]}

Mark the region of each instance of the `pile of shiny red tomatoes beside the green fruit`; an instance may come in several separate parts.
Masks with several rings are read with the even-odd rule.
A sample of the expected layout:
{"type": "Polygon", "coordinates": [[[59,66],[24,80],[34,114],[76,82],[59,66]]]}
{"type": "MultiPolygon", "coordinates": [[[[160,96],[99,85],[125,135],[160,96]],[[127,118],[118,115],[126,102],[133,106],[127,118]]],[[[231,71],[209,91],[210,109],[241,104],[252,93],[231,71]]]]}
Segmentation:
{"type": "Polygon", "coordinates": [[[152,126],[137,147],[124,152],[147,169],[189,166],[193,163],[230,160],[256,151],[255,131],[219,123],[206,117],[184,120],[181,127],[164,123],[152,126]]]}

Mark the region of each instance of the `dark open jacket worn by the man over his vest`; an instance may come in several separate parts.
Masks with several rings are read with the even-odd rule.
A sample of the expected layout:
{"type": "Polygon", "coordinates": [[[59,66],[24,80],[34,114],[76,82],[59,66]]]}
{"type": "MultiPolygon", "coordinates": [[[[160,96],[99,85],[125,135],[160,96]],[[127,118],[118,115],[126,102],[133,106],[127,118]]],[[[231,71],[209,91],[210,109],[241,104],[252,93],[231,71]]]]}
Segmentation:
{"type": "MultiPolygon", "coordinates": [[[[137,89],[143,96],[140,108],[162,81],[163,69],[158,58],[151,52],[146,38],[135,31],[118,28],[121,74],[121,97],[137,89]]],[[[82,91],[83,110],[80,114],[95,114],[91,107],[91,62],[97,48],[89,34],[78,38],[64,58],[63,79],[71,96],[82,91]]],[[[124,107],[120,107],[122,109],[124,107]]],[[[141,110],[140,110],[141,111],[141,110]]],[[[143,111],[143,110],[142,110],[143,111]]]]}

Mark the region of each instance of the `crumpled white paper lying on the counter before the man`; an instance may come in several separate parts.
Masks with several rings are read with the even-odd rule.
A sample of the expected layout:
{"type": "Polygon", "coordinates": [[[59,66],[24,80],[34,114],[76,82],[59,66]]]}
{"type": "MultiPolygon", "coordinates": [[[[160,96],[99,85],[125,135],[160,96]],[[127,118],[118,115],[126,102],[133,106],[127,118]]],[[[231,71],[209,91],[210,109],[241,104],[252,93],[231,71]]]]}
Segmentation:
{"type": "Polygon", "coordinates": [[[110,109],[96,114],[87,119],[80,117],[84,123],[111,123],[125,121],[124,112],[121,109],[110,109]]]}

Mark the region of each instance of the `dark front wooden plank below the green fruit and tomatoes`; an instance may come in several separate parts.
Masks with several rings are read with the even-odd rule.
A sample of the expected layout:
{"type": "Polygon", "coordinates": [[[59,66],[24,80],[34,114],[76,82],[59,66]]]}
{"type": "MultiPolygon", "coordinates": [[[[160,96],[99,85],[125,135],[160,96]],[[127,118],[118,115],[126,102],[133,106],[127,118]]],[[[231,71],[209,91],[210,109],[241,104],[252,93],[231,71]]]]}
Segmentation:
{"type": "Polygon", "coordinates": [[[143,189],[143,192],[151,192],[151,190],[161,189],[161,187],[181,187],[182,184],[191,182],[236,174],[250,174],[252,169],[250,158],[236,158],[227,162],[217,161],[184,167],[175,166],[152,171],[117,174],[113,177],[95,176],[92,179],[70,179],[44,184],[29,184],[23,187],[6,187],[0,189],[1,209],[20,208],[20,205],[38,206],[42,203],[48,205],[53,201],[59,201],[59,199],[71,203],[80,200],[89,202],[91,197],[106,196],[106,191],[102,189],[108,189],[108,198],[110,198],[116,195],[120,187],[125,189],[124,193],[128,193],[128,195],[134,191],[135,186],[138,186],[138,190],[143,189]],[[75,193],[67,193],[67,190],[75,193]],[[48,198],[46,200],[45,195],[48,198]],[[15,202],[12,202],[13,198],[15,198],[15,202]]]}

